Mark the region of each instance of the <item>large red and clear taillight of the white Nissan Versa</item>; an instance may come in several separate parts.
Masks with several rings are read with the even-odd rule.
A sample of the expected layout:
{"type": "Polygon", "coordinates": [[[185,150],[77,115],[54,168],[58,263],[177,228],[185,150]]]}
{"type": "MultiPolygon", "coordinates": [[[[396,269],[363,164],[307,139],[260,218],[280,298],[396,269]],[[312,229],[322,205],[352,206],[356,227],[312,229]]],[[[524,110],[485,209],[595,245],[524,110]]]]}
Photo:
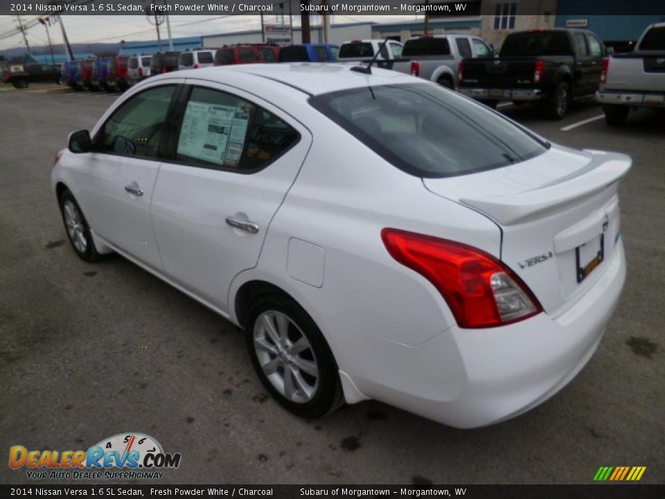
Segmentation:
{"type": "Polygon", "coordinates": [[[503,326],[542,312],[522,279],[481,249],[398,229],[383,229],[381,238],[393,259],[434,285],[462,328],[503,326]]]}

